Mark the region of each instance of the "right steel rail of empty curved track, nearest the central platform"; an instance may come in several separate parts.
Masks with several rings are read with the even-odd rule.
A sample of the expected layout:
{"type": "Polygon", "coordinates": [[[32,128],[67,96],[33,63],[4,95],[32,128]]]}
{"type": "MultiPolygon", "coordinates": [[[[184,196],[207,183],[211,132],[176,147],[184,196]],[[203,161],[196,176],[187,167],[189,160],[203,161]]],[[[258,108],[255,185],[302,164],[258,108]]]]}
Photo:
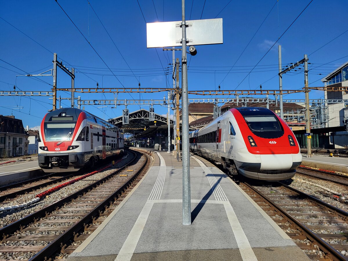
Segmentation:
{"type": "MultiPolygon", "coordinates": [[[[135,160],[135,158],[133,160],[135,160]]],[[[132,162],[133,162],[133,160],[132,160],[132,162]]],[[[141,168],[139,169],[139,171],[137,171],[125,184],[123,184],[119,189],[114,191],[111,195],[109,195],[106,199],[104,199],[98,206],[93,208],[88,214],[86,214],[84,217],[82,217],[78,222],[76,222],[73,226],[71,226],[63,234],[59,235],[56,239],[54,239],[51,243],[49,243],[40,252],[38,252],[36,255],[34,255],[30,259],[30,261],[45,260],[45,258],[49,258],[50,255],[55,253],[55,251],[59,247],[61,247],[62,244],[64,244],[70,238],[72,238],[74,236],[74,233],[77,233],[82,228],[84,228],[85,224],[91,222],[93,220],[93,217],[95,217],[99,214],[99,211],[101,211],[103,208],[105,208],[106,205],[108,205],[110,202],[112,202],[118,194],[122,193],[123,190],[127,189],[128,185],[130,185],[133,182],[133,180],[135,180],[136,177],[144,169],[147,162],[148,162],[148,157],[146,157],[146,160],[145,160],[144,164],[141,166],[141,168]]],[[[119,172],[119,171],[117,171],[117,172],[119,172]]]]}

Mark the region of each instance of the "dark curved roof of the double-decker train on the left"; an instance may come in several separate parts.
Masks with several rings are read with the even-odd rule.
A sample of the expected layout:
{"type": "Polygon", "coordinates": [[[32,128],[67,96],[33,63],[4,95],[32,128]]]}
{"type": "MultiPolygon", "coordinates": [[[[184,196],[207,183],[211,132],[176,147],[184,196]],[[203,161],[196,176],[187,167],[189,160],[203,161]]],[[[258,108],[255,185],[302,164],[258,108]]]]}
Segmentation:
{"type": "Polygon", "coordinates": [[[61,108],[61,109],[51,111],[51,112],[47,113],[47,115],[45,117],[45,122],[52,121],[52,117],[57,117],[57,118],[62,117],[61,120],[64,120],[63,117],[70,117],[69,120],[77,121],[81,112],[86,113],[87,119],[94,119],[99,124],[102,122],[104,125],[111,125],[117,129],[119,129],[117,126],[113,125],[112,123],[110,123],[106,120],[103,120],[103,119],[101,119],[101,118],[99,118],[99,117],[97,117],[97,116],[95,116],[87,111],[77,109],[77,108],[61,108]]]}

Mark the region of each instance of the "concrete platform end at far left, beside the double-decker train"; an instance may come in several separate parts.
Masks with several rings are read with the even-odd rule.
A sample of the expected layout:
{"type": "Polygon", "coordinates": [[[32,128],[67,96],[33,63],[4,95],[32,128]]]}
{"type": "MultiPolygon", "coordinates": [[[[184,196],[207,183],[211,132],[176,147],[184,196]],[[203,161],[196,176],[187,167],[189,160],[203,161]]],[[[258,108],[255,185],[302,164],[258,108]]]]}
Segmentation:
{"type": "Polygon", "coordinates": [[[38,161],[0,166],[0,185],[13,181],[29,179],[44,173],[39,167],[38,161]]]}

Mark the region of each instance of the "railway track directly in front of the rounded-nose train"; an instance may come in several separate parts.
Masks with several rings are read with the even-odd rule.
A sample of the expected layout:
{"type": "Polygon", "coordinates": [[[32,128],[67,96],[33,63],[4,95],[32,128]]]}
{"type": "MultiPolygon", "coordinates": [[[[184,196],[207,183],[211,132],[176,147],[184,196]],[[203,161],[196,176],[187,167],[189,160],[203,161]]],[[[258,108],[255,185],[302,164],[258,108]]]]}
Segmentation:
{"type": "Polygon", "coordinates": [[[348,213],[282,183],[240,187],[311,260],[348,259],[348,213]]]}

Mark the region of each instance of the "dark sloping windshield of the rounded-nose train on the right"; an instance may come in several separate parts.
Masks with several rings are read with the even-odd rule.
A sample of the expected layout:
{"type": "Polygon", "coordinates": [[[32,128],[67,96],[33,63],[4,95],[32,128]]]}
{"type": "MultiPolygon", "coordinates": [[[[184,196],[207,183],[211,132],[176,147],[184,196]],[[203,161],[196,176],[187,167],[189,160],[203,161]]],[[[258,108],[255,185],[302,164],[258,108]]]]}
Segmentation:
{"type": "Polygon", "coordinates": [[[275,116],[245,116],[244,118],[256,136],[271,139],[284,134],[284,129],[275,116]]]}

